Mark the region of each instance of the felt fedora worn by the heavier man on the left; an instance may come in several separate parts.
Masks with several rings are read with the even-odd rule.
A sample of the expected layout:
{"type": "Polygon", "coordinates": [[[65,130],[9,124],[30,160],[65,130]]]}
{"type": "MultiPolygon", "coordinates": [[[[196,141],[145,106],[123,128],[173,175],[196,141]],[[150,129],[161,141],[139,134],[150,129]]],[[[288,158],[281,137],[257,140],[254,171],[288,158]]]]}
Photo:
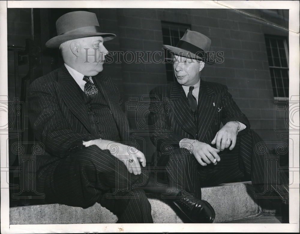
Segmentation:
{"type": "Polygon", "coordinates": [[[116,37],[113,33],[101,32],[95,13],[73,11],[62,15],[56,21],[57,36],[46,42],[48,48],[58,48],[63,42],[91,36],[102,36],[104,41],[116,37]]]}

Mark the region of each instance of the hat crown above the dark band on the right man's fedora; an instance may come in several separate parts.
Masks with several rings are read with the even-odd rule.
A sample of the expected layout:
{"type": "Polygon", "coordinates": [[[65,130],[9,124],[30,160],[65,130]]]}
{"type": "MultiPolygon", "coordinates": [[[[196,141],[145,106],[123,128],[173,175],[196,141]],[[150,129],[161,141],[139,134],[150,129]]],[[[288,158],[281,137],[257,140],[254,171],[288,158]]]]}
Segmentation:
{"type": "Polygon", "coordinates": [[[182,36],[182,38],[180,40],[188,42],[188,43],[202,49],[205,52],[207,52],[209,50],[210,45],[211,45],[211,40],[207,36],[203,35],[200,32],[191,31],[188,29],[185,31],[184,35],[182,36]]]}

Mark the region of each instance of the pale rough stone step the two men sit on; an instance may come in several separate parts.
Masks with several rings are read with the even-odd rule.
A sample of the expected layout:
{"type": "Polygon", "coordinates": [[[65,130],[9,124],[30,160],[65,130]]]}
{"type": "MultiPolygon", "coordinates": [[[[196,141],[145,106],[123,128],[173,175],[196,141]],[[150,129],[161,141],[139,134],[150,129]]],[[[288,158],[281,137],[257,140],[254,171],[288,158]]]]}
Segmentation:
{"type": "MultiPolygon", "coordinates": [[[[202,188],[202,199],[216,212],[214,223],[253,217],[261,211],[250,182],[202,188]]],[[[169,204],[149,196],[154,223],[183,223],[169,204]]],[[[117,217],[98,203],[83,209],[60,204],[10,208],[10,224],[116,223],[117,217]]]]}

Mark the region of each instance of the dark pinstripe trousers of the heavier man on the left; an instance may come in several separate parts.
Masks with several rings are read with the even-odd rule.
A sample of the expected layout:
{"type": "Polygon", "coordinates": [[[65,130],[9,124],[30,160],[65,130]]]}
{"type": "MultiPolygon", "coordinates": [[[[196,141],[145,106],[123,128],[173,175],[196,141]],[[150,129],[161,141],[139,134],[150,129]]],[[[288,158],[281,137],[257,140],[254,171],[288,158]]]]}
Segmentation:
{"type": "Polygon", "coordinates": [[[92,145],[59,159],[47,170],[48,203],[87,208],[95,202],[118,216],[119,223],[152,223],[151,206],[135,184],[148,180],[147,172],[130,174],[124,163],[92,145]]]}

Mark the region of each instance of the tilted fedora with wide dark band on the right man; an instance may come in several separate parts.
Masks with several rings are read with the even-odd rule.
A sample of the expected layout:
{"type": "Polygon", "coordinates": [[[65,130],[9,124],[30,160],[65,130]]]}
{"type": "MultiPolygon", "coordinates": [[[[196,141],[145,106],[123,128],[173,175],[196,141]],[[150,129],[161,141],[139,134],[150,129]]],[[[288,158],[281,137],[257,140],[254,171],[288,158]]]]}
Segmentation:
{"type": "Polygon", "coordinates": [[[207,36],[187,29],[176,46],[163,46],[176,55],[214,64],[214,62],[208,61],[207,51],[210,48],[210,44],[211,40],[207,36]]]}

